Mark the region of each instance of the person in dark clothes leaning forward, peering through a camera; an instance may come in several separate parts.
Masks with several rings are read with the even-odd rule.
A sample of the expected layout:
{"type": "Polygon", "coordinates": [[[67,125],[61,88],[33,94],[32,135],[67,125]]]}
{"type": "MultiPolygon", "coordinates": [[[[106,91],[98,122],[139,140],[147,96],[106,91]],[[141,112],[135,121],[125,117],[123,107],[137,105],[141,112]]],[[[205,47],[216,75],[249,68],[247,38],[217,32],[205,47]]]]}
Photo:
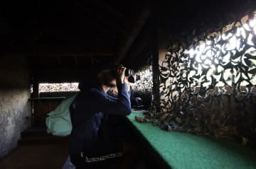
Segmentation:
{"type": "Polygon", "coordinates": [[[122,143],[100,140],[99,129],[104,114],[129,115],[132,112],[124,84],[125,69],[119,66],[114,74],[110,68],[97,71],[97,82],[84,88],[70,106],[73,131],[68,148],[76,168],[101,168],[112,158],[123,156],[122,143]],[[107,95],[114,86],[117,86],[117,98],[107,95]]]}

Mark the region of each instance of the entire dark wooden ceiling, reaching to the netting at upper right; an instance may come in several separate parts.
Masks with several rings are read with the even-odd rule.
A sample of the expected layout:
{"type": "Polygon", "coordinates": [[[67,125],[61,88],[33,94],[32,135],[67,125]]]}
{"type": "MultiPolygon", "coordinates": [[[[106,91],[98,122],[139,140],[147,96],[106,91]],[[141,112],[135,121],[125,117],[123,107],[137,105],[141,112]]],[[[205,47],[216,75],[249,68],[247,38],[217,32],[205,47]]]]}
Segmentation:
{"type": "Polygon", "coordinates": [[[97,62],[138,67],[159,43],[157,28],[180,33],[245,1],[1,1],[0,55],[28,57],[40,81],[78,80],[97,62]]]}

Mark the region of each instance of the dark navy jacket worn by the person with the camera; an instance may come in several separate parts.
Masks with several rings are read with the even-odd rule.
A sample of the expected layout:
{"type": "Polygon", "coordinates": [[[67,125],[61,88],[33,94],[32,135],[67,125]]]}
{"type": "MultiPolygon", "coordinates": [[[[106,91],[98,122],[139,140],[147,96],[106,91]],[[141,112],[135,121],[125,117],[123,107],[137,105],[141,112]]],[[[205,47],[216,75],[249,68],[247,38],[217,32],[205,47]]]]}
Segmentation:
{"type": "Polygon", "coordinates": [[[100,86],[82,91],[70,107],[73,130],[68,148],[70,156],[90,152],[92,144],[98,141],[98,132],[104,113],[129,115],[132,112],[129,94],[125,84],[117,85],[118,98],[107,95],[100,86]]]}

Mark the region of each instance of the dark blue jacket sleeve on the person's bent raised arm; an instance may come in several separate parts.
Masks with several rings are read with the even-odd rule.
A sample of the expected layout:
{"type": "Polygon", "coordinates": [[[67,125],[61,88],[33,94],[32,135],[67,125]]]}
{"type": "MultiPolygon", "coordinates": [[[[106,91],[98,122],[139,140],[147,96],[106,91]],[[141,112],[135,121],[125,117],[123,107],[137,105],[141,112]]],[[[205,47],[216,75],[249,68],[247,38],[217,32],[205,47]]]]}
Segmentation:
{"type": "Polygon", "coordinates": [[[129,115],[132,112],[131,101],[125,84],[117,85],[118,98],[107,97],[97,89],[92,89],[92,113],[103,112],[114,115],[129,115]]]}

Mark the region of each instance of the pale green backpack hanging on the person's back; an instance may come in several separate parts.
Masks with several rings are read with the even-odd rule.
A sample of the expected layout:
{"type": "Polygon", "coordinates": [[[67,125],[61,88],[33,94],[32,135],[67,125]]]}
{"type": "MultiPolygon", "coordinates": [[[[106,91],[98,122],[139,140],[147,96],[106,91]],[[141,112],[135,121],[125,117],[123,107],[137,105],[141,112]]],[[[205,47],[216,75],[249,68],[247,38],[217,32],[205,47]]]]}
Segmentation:
{"type": "Polygon", "coordinates": [[[46,117],[47,133],[55,136],[68,136],[72,131],[72,123],[70,118],[70,105],[75,100],[76,95],[65,98],[58,107],[48,113],[46,117]]]}

